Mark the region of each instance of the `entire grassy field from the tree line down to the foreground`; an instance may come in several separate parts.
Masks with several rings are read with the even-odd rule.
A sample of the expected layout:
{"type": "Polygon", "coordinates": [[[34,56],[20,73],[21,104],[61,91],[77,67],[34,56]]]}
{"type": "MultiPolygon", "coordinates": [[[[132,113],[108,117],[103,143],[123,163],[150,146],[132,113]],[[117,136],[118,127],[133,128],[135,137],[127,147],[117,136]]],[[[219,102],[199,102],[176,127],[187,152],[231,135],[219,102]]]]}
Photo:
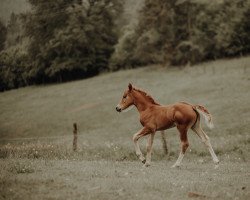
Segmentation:
{"type": "Polygon", "coordinates": [[[250,199],[249,65],[250,57],[182,70],[148,66],[0,93],[0,199],[250,199]],[[206,106],[215,128],[204,130],[220,166],[190,132],[183,166],[171,169],[179,139],[170,129],[170,156],[157,135],[152,166],[142,168],[131,140],[138,113],[115,111],[129,82],[162,104],[206,106]]]}

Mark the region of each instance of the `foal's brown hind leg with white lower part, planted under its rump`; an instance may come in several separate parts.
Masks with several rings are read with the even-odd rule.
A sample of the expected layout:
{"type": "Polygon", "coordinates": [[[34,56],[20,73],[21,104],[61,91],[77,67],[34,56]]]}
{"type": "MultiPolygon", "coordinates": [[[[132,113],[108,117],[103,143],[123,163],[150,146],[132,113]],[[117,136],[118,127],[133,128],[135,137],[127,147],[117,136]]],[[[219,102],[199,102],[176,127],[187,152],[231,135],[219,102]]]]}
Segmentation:
{"type": "Polygon", "coordinates": [[[179,167],[181,165],[181,161],[184,157],[184,154],[189,146],[188,143],[188,138],[187,138],[187,126],[177,126],[177,129],[180,132],[180,139],[181,139],[181,150],[180,150],[180,154],[179,157],[177,159],[177,161],[175,162],[175,164],[172,167],[179,167]]]}

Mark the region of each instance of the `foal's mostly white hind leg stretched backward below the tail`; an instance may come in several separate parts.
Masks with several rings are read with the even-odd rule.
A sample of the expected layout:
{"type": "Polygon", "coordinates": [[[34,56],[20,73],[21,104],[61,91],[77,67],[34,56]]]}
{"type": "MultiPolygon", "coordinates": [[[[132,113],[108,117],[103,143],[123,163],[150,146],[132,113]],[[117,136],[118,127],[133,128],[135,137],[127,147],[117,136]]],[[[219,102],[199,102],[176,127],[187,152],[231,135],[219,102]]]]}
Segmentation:
{"type": "Polygon", "coordinates": [[[202,130],[201,128],[201,125],[200,125],[200,121],[197,121],[197,123],[195,124],[194,127],[192,127],[192,130],[200,137],[200,139],[202,140],[202,142],[206,145],[206,147],[208,148],[212,158],[213,158],[213,161],[215,164],[218,164],[219,163],[219,159],[218,157],[216,156],[214,150],[213,150],[213,147],[210,143],[210,139],[209,137],[207,136],[207,134],[202,130]]]}

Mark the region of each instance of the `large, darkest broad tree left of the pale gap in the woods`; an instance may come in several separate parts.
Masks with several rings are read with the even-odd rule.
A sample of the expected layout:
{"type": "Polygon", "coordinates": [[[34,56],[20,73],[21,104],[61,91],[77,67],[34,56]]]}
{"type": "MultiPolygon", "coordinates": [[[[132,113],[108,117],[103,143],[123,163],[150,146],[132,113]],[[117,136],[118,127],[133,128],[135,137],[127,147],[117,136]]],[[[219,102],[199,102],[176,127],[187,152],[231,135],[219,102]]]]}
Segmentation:
{"type": "Polygon", "coordinates": [[[108,69],[118,35],[115,0],[30,0],[34,13],[26,26],[35,83],[85,78],[108,69]],[[53,12],[56,10],[56,12],[53,12]]]}

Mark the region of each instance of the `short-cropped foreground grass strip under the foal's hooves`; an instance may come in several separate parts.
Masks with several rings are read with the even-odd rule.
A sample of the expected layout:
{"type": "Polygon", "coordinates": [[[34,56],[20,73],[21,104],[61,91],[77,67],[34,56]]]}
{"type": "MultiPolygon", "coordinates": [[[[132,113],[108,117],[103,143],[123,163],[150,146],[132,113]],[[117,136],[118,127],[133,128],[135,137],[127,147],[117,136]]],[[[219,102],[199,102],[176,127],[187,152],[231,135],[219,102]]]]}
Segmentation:
{"type": "Polygon", "coordinates": [[[247,163],[185,161],[142,168],[139,162],[0,160],[0,199],[249,199],[247,163]],[[16,164],[18,163],[18,164],[16,164]],[[13,165],[34,172],[9,171],[13,165]],[[205,196],[205,197],[203,197],[205,196]]]}

